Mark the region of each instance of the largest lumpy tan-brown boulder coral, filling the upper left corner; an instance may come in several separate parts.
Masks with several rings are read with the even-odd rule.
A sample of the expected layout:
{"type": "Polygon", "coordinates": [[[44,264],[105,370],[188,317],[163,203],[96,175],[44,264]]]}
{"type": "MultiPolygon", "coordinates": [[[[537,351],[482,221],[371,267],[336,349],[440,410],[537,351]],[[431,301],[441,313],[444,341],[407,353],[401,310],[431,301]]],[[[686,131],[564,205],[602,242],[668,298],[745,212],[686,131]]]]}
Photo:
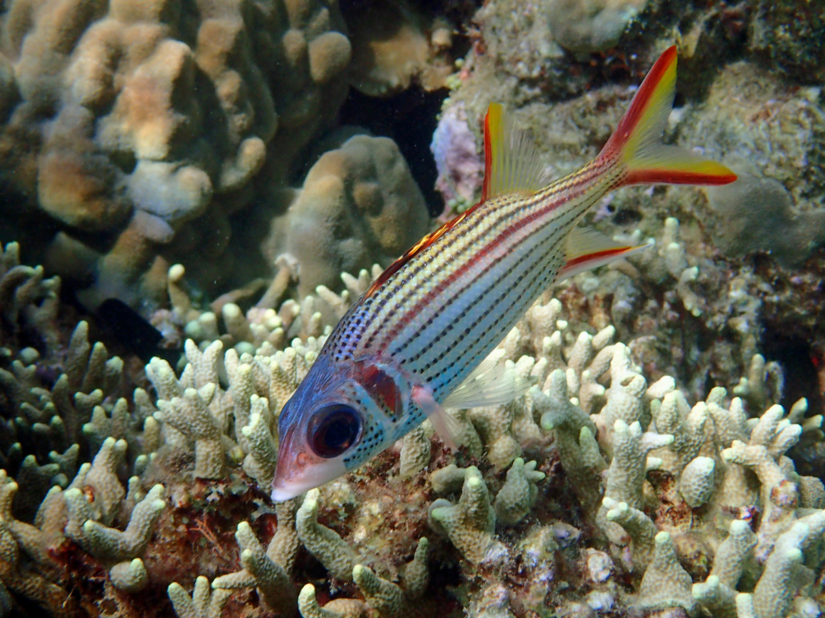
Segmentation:
{"type": "Polygon", "coordinates": [[[208,214],[229,232],[252,177],[266,162],[285,180],[347,92],[346,29],[321,0],[15,0],[0,30],[4,179],[64,230],[50,265],[81,261],[92,306],[154,297],[160,254],[199,236],[181,228],[208,214]]]}

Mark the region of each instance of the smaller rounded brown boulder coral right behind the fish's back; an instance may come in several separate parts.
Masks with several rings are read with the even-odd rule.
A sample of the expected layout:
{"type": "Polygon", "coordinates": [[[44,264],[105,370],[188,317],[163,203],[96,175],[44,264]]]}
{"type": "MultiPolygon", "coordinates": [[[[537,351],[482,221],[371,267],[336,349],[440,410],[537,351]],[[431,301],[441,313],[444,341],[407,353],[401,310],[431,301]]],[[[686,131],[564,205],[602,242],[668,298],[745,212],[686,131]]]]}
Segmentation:
{"type": "Polygon", "coordinates": [[[378,262],[387,266],[429,227],[427,205],[398,146],[355,135],[323,154],[271,219],[263,252],[294,265],[298,294],[339,288],[339,274],[378,262]]]}

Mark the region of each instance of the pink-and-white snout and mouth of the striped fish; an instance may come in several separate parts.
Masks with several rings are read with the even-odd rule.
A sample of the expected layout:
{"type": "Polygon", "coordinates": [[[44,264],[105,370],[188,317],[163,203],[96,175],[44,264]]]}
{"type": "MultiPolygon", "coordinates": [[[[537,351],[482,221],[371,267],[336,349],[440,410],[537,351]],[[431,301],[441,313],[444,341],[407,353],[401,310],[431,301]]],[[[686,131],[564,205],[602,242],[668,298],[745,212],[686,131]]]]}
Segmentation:
{"type": "Polygon", "coordinates": [[[323,459],[314,455],[295,439],[292,429],[286,433],[278,450],[272,500],[284,502],[295,498],[346,473],[347,466],[341,457],[323,459]]]}

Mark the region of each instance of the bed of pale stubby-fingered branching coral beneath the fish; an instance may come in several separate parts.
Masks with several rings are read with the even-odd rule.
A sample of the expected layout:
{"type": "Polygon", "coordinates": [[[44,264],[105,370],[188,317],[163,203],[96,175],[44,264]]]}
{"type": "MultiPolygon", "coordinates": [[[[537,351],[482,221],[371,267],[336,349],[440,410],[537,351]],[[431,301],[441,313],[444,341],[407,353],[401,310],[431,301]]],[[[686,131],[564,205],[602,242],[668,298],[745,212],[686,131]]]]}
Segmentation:
{"type": "MultiPolygon", "coordinates": [[[[359,282],[350,280],[354,293],[365,285],[359,282]]],[[[346,309],[348,298],[349,293],[329,293],[324,302],[340,312],[346,309]]],[[[750,599],[758,618],[774,611],[759,609],[766,607],[766,597],[787,606],[782,599],[793,596],[796,588],[765,592],[784,585],[783,569],[797,564],[790,556],[793,552],[784,549],[793,543],[780,540],[790,539],[784,535],[794,531],[798,540],[794,543],[803,548],[806,568],[815,569],[821,563],[818,544],[799,539],[803,524],[812,531],[808,536],[817,534],[813,530],[818,530],[821,515],[817,513],[822,512],[799,508],[822,508],[825,489],[818,480],[796,474],[784,453],[802,434],[803,424],[816,439],[821,419],[804,419],[805,406],[800,403],[788,415],[771,406],[760,419],[749,422],[742,401],[728,402],[722,388],[691,408],[672,378],[662,377],[648,386],[630,350],[613,343],[612,328],[602,327],[595,335],[574,334],[562,319],[562,311],[559,302],[543,299],[494,353],[498,362],[511,363],[513,372],[537,382],[526,396],[471,414],[450,412],[474,436],[466,454],[459,454],[457,460],[433,448],[428,438],[431,429],[424,427],[403,442],[397,466],[387,467],[395,456],[385,454],[370,464],[383,471],[339,480],[324,488],[323,494],[314,490],[300,508],[299,500],[279,505],[277,527],[266,545],[271,507],[260,497],[253,500],[258,505],[254,512],[238,505],[243,513],[240,524],[223,515],[212,524],[199,523],[196,529],[202,530],[202,538],[209,540],[215,555],[224,556],[231,556],[232,550],[221,535],[226,536],[231,526],[240,550],[239,568],[229,558],[218,572],[207,571],[208,579],[194,582],[177,576],[179,583],[172,586],[167,579],[163,585],[177,613],[209,616],[233,603],[229,590],[235,591],[233,595],[257,596],[261,607],[285,615],[296,609],[304,616],[406,613],[417,606],[427,587],[429,542],[421,539],[417,548],[408,546],[399,553],[392,545],[398,541],[384,538],[384,531],[387,526],[404,525],[421,530],[427,526],[428,502],[429,525],[436,532],[430,536],[434,550],[466,559],[460,563],[466,564],[461,567],[460,581],[471,611],[496,606],[517,616],[548,599],[563,606],[568,602],[565,593],[554,585],[559,559],[587,562],[588,573],[592,573],[588,581],[593,588],[587,597],[591,606],[694,611],[698,604],[729,614],[737,603],[736,594],[742,591],[752,597],[741,597],[738,604],[744,606],[750,599]],[[511,447],[503,449],[505,443],[511,447]],[[535,453],[535,461],[514,456],[519,452],[535,453]],[[456,465],[466,466],[467,456],[479,457],[478,465],[456,465]],[[554,461],[561,467],[555,467],[554,461]],[[434,470],[425,477],[419,471],[427,464],[434,470]],[[505,466],[506,475],[499,472],[505,466]],[[394,485],[389,494],[386,484],[394,485]],[[553,498],[555,492],[545,488],[558,484],[572,491],[553,498]],[[432,500],[430,490],[460,497],[455,503],[432,500]],[[390,497],[398,491],[408,492],[404,507],[390,497]],[[572,504],[577,506],[571,508],[572,504]],[[730,522],[731,513],[752,517],[753,508],[762,509],[754,524],[758,522],[756,535],[748,538],[746,520],[734,518],[726,524],[731,530],[728,541],[720,538],[714,518],[730,522]],[[576,509],[580,514],[571,516],[576,509]],[[408,520],[409,524],[404,523],[408,520]],[[587,525],[595,531],[595,538],[577,530],[576,526],[587,525]],[[224,532],[210,530],[211,526],[224,532]],[[698,545],[697,535],[706,536],[698,545]],[[607,541],[610,547],[610,553],[598,554],[605,563],[601,566],[598,560],[594,562],[595,550],[588,546],[592,541],[607,541]],[[305,567],[295,565],[302,546],[320,564],[315,569],[322,568],[345,587],[356,584],[357,591],[345,588],[350,591],[348,598],[322,604],[315,597],[321,584],[310,579],[314,588],[304,588],[295,597],[295,581],[307,581],[305,567]],[[693,552],[697,564],[702,560],[709,564],[715,555],[710,572],[685,564],[683,552],[687,551],[693,552]],[[516,575],[521,573],[516,560],[526,569],[523,574],[516,575]],[[754,567],[760,563],[765,564],[762,573],[754,567]],[[464,569],[479,569],[478,581],[465,579],[464,569]],[[631,578],[632,590],[621,592],[615,587],[614,580],[620,576],[631,578]],[[529,594],[501,597],[495,592],[501,578],[522,577],[529,581],[525,588],[529,594]],[[208,594],[210,581],[214,592],[208,594]],[[190,596],[186,590],[193,585],[190,596]]],[[[277,328],[283,325],[281,321],[277,328]]],[[[240,322],[233,331],[247,339],[256,336],[240,322]]],[[[46,488],[52,476],[61,473],[68,488],[52,489],[40,507],[41,513],[48,509],[65,513],[59,516],[65,517],[65,523],[58,519],[57,524],[46,525],[45,520],[36,520],[41,523],[31,525],[10,512],[2,517],[5,529],[26,548],[25,564],[48,567],[54,574],[56,565],[44,549],[44,539],[61,542],[65,535],[106,569],[113,589],[129,594],[158,581],[154,579],[160,571],[151,541],[153,530],[160,527],[169,534],[173,520],[191,517],[187,504],[192,501],[205,505],[207,513],[217,508],[217,516],[230,508],[224,499],[227,492],[248,493],[247,483],[266,488],[274,470],[276,416],[314,361],[323,335],[294,339],[292,347],[283,350],[275,349],[266,337],[258,340],[254,353],[239,350],[242,341],[225,353],[221,343],[198,348],[188,342],[187,363],[180,377],[167,363],[154,359],[147,375],[158,399],[153,401],[150,392],[137,389],[134,412],[130,412],[120,398],[110,402],[103,396],[104,390],[116,391],[120,386],[106,382],[106,350],[98,346],[96,351],[87,343],[86,330],[79,329],[71,346],[73,360],[59,383],[65,385],[62,388],[69,384],[78,389],[103,387],[92,396],[78,395],[71,409],[71,414],[78,414],[76,406],[86,410],[82,413],[88,414],[82,417],[88,419],[86,430],[75,435],[89,443],[100,441],[101,452],[95,465],[80,466],[70,483],[76,465],[72,452],[55,454],[54,469],[45,469],[34,459],[26,464],[30,474],[44,479],[46,488]],[[174,419],[175,414],[180,419],[174,419]],[[200,447],[199,442],[203,442],[200,447]],[[143,477],[130,479],[128,491],[114,474],[127,461],[143,477]],[[213,478],[192,487],[190,473],[203,478],[202,471],[213,478]],[[144,494],[144,487],[163,479],[167,479],[164,485],[171,484],[167,490],[171,508],[164,508],[159,499],[159,486],[144,494]],[[84,488],[93,488],[92,493],[84,488]],[[118,524],[124,524],[125,531],[118,524]]],[[[26,365],[19,363],[15,371],[30,389],[36,388],[36,377],[26,372],[26,365]]],[[[31,399],[26,388],[15,392],[21,405],[31,399]]],[[[40,408],[34,409],[40,410],[42,403],[35,403],[40,408]]],[[[55,406],[55,410],[63,409],[55,406]]],[[[52,414],[62,419],[61,414],[52,414]]],[[[73,421],[72,426],[77,423],[73,421]]],[[[11,498],[7,501],[11,503],[11,498]]],[[[413,538],[420,536],[416,533],[413,538]]],[[[403,537],[408,538],[398,539],[403,537]]],[[[16,560],[12,564],[19,564],[20,559],[16,560]]],[[[29,583],[9,576],[4,579],[7,586],[27,590],[31,582],[40,581],[32,577],[42,578],[35,575],[36,569],[23,572],[31,573],[29,583]]],[[[59,576],[52,578],[61,581],[59,576]]],[[[327,588],[324,584],[325,596],[327,588]]],[[[55,598],[62,589],[54,588],[55,598]]],[[[802,592],[813,594],[813,589],[804,584],[802,592]]],[[[54,606],[46,597],[35,598],[43,606],[54,606]]]]}

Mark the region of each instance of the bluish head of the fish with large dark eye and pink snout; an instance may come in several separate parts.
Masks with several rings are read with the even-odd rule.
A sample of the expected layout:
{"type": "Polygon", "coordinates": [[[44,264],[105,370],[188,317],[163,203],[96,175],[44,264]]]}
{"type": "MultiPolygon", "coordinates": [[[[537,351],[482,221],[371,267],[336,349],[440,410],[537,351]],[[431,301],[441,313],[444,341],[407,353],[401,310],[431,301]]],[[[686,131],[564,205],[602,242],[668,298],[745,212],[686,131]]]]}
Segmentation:
{"type": "Polygon", "coordinates": [[[355,363],[320,356],[278,419],[272,499],[337,479],[386,447],[388,433],[355,363]]]}

